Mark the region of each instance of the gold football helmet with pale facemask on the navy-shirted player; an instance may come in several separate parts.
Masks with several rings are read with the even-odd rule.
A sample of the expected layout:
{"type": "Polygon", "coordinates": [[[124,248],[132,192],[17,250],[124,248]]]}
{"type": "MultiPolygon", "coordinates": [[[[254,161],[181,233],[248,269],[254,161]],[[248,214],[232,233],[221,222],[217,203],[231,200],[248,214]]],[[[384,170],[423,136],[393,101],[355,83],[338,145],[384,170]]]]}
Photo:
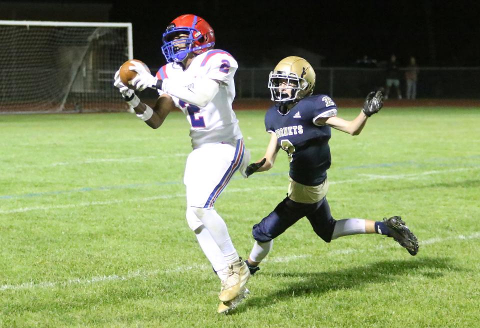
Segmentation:
{"type": "Polygon", "coordinates": [[[309,96],[314,86],[315,71],[308,61],[297,56],[281,59],[268,78],[271,100],[280,104],[297,102],[309,96]]]}

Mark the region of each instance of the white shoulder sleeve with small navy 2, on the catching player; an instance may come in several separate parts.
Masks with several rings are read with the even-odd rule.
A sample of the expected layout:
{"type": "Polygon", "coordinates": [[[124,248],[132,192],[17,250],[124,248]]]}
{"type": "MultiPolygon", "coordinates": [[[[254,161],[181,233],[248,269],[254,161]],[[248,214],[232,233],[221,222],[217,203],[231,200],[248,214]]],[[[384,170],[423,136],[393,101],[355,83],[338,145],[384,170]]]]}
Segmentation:
{"type": "Polygon", "coordinates": [[[200,66],[207,66],[206,78],[215,79],[225,84],[233,81],[238,68],[236,60],[226,51],[210,50],[203,58],[200,66]]]}

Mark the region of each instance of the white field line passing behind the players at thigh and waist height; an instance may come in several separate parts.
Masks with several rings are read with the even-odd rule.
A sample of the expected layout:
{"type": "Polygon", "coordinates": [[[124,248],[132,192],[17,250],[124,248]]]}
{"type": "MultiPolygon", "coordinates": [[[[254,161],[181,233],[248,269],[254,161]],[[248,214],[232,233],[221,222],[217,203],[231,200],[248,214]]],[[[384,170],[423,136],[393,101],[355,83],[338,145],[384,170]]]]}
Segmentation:
{"type": "MultiPolygon", "coordinates": [[[[448,172],[456,172],[456,171],[464,171],[464,170],[471,170],[471,169],[480,169],[480,167],[468,167],[468,168],[455,168],[455,169],[445,169],[445,170],[434,170],[434,171],[426,171],[420,173],[410,173],[410,174],[394,174],[394,175],[373,175],[368,174],[367,178],[363,179],[349,179],[349,180],[340,180],[340,181],[332,181],[329,182],[330,184],[340,184],[340,183],[351,183],[351,182],[364,182],[370,180],[378,180],[378,179],[401,179],[401,178],[416,178],[423,175],[431,175],[431,174],[441,174],[441,173],[448,173],[448,172]]],[[[365,174],[361,174],[365,175],[365,174]]],[[[231,188],[225,189],[225,193],[229,192],[245,192],[245,191],[255,191],[255,190],[271,190],[271,189],[287,189],[286,186],[264,186],[258,188],[231,188]]],[[[19,207],[19,208],[12,208],[12,209],[0,209],[0,214],[11,214],[11,213],[19,213],[19,212],[27,212],[30,210],[50,210],[50,209],[60,209],[60,208],[72,208],[72,207],[83,207],[83,206],[95,206],[95,205],[109,205],[109,204],[118,204],[122,202],[141,202],[141,201],[150,201],[156,199],[171,199],[176,197],[184,197],[185,194],[174,194],[174,195],[160,195],[160,196],[151,196],[145,198],[132,198],[132,199],[116,199],[116,200],[105,200],[105,201],[89,201],[89,202],[80,202],[80,203],[73,203],[73,204],[64,204],[64,205],[48,205],[48,206],[32,206],[32,207],[19,207]]]]}

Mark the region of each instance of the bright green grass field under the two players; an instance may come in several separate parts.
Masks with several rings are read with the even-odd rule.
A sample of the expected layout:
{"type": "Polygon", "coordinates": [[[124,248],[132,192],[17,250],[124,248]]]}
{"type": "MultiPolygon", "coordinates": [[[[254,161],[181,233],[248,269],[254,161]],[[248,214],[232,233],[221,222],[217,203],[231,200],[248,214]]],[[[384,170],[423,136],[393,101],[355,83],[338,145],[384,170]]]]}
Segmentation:
{"type": "MultiPolygon", "coordinates": [[[[353,118],[358,109],[341,109],[353,118]]],[[[252,158],[263,111],[238,111],[252,158]]],[[[0,327],[477,327],[480,108],[388,108],[332,131],[335,218],[401,215],[392,239],[327,244],[306,219],[275,239],[251,295],[216,314],[219,281],[184,218],[184,116],[0,116],[0,327]]],[[[235,174],[215,204],[238,252],[286,192],[288,163],[235,174]]]]}

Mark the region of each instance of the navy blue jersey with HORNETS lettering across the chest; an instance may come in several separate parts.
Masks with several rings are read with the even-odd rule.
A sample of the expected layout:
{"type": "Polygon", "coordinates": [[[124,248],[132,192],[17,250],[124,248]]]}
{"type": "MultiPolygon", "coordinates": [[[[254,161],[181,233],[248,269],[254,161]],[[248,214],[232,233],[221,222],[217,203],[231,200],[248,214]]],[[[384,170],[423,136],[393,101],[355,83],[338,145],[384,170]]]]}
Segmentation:
{"type": "Polygon", "coordinates": [[[265,114],[265,129],[276,133],[278,145],[290,160],[290,177],[305,185],[318,185],[326,178],[330,167],[328,125],[315,125],[319,117],[336,115],[336,104],[325,95],[312,95],[298,101],[288,113],[282,115],[271,106],[265,114]]]}

